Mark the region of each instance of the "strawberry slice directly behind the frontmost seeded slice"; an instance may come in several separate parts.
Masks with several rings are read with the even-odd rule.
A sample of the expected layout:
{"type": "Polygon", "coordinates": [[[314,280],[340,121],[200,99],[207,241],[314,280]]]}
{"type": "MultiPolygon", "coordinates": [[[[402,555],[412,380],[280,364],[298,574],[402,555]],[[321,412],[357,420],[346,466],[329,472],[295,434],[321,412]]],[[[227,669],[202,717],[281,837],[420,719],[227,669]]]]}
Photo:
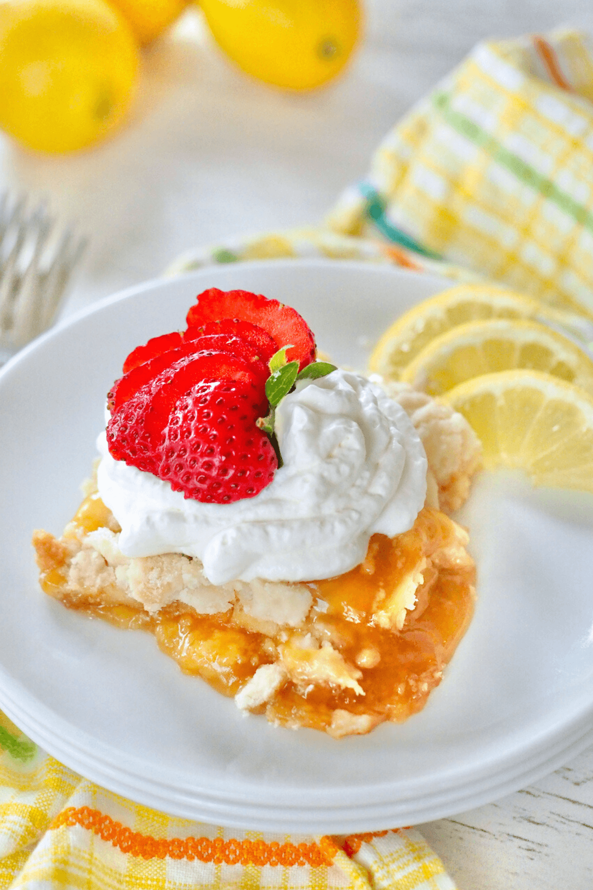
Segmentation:
{"type": "Polygon", "coordinates": [[[268,400],[252,362],[230,352],[196,352],[165,368],[114,410],[107,426],[112,457],[156,473],[163,431],[175,403],[196,384],[213,385],[220,379],[248,384],[254,393],[252,410],[256,417],[266,412],[268,400]]]}

